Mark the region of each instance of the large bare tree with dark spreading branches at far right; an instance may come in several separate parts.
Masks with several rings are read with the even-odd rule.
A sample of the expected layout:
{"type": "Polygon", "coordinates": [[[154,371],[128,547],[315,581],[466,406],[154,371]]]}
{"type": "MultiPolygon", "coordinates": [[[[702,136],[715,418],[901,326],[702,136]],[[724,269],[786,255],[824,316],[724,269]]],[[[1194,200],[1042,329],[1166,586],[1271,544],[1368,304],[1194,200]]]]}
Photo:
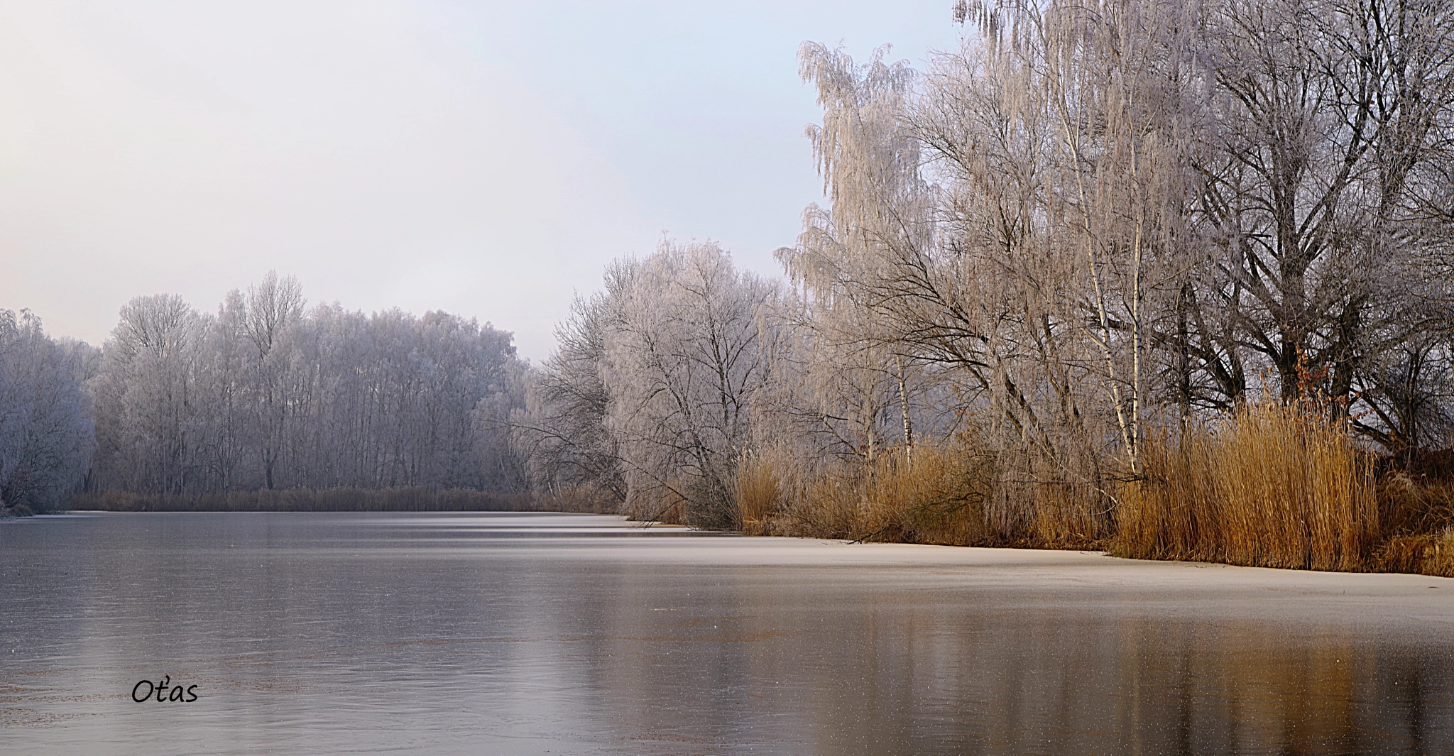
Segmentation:
{"type": "Polygon", "coordinates": [[[1448,177],[1451,13],[1445,1],[1202,9],[1210,124],[1189,157],[1214,256],[1191,289],[1208,326],[1191,350],[1200,400],[1240,395],[1264,366],[1285,398],[1323,371],[1349,397],[1365,358],[1426,326],[1409,297],[1426,272],[1406,260],[1444,236],[1421,198],[1448,177]]]}

